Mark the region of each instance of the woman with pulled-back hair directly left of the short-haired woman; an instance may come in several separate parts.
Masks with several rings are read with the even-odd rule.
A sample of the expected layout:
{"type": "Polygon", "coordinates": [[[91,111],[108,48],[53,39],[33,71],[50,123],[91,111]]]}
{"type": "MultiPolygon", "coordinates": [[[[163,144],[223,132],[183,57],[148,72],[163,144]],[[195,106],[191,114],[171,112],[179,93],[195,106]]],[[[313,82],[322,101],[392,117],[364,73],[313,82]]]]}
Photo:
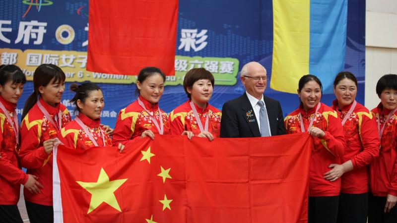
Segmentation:
{"type": "Polygon", "coordinates": [[[113,133],[113,145],[125,145],[137,137],[170,134],[168,115],[158,107],[164,91],[165,75],[156,67],[143,68],[137,77],[138,99],[122,109],[113,133]]]}

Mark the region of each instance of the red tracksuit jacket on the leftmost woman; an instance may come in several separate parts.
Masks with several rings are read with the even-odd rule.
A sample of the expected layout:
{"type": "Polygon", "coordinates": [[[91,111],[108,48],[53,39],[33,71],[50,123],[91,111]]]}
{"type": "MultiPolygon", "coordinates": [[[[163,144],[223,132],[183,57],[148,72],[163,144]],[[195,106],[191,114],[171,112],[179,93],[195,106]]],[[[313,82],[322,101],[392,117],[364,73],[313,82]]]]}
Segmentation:
{"type": "MultiPolygon", "coordinates": [[[[0,101],[4,105],[14,121],[13,113],[16,104],[5,101],[0,96],[0,101]]],[[[21,184],[25,184],[28,175],[24,173],[17,159],[19,146],[16,147],[13,123],[9,123],[4,112],[0,109],[0,205],[16,205],[19,200],[19,190],[21,184]]]]}

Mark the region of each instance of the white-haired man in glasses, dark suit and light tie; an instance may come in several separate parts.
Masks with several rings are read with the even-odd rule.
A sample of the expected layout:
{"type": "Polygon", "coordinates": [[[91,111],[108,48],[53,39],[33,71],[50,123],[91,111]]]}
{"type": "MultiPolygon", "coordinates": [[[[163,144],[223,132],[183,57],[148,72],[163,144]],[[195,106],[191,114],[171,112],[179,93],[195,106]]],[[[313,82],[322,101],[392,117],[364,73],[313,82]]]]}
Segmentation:
{"type": "Polygon", "coordinates": [[[241,69],[246,92],[222,108],[220,137],[243,138],[286,134],[280,103],[264,96],[266,69],[249,62],[241,69]]]}

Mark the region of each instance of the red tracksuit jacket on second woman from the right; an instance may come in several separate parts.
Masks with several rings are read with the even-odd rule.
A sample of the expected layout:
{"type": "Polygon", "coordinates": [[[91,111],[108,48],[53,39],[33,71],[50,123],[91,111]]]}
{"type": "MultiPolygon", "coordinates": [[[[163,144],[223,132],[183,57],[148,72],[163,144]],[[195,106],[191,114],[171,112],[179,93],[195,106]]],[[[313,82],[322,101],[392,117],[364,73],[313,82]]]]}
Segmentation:
{"type": "MultiPolygon", "coordinates": [[[[332,109],[343,120],[352,104],[338,111],[337,100],[332,102],[332,109]]],[[[372,113],[357,103],[350,117],[343,125],[346,148],[341,163],[351,160],[353,169],[342,175],[340,192],[362,194],[368,192],[368,168],[379,157],[379,135],[372,113]]]]}

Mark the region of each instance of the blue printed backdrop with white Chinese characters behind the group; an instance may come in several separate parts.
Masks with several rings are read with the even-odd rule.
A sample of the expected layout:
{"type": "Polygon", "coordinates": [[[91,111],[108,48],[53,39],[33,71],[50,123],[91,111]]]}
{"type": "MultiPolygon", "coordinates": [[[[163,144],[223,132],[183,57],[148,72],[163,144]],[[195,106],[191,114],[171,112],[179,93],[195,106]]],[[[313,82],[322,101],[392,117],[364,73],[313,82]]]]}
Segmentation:
{"type": "MultiPolygon", "coordinates": [[[[88,0],[39,0],[38,3],[36,2],[33,0],[0,1],[1,63],[19,65],[27,72],[27,75],[31,74],[29,68],[30,70],[35,68],[32,65],[33,57],[29,57],[31,60],[28,64],[28,53],[34,53],[35,50],[40,53],[44,52],[43,54],[47,52],[50,55],[47,58],[43,55],[42,62],[55,61],[51,60],[51,55],[57,57],[56,54],[61,55],[65,52],[65,54],[75,52],[75,60],[77,60],[78,52],[87,51],[84,42],[88,39],[88,0]],[[24,25],[20,22],[29,22],[29,24],[24,25]],[[47,24],[44,26],[40,23],[47,24]],[[61,25],[65,24],[68,26],[57,31],[61,25]],[[44,27],[45,32],[43,33],[39,27],[44,27]],[[68,27],[72,27],[73,31],[70,31],[68,27]]],[[[349,0],[347,16],[345,70],[357,76],[359,80],[357,101],[363,104],[365,1],[349,0]]],[[[244,93],[245,89],[237,72],[245,63],[253,60],[260,61],[271,78],[273,47],[271,0],[180,0],[177,32],[176,65],[179,66],[177,73],[186,73],[184,70],[189,69],[192,64],[195,67],[200,66],[199,61],[202,62],[201,66],[205,66],[203,57],[210,57],[206,60],[214,61],[214,63],[207,61],[206,67],[212,64],[216,66],[214,69],[218,73],[234,74],[234,81],[228,80],[229,84],[227,84],[227,81],[222,82],[218,78],[219,81],[214,86],[210,104],[218,109],[222,108],[224,102],[244,93]],[[188,58],[188,66],[186,64],[183,66],[181,60],[186,58],[188,58]],[[233,60],[235,67],[223,64],[224,67],[221,68],[221,61],[228,60],[233,60]],[[234,84],[235,80],[237,82],[234,84]]],[[[59,55],[57,57],[59,64],[65,63],[61,61],[59,55]]],[[[79,64],[82,63],[80,61],[79,64]]],[[[68,90],[71,80],[70,78],[66,80],[63,101],[68,109],[73,111],[74,108],[67,103],[73,96],[68,90]]],[[[84,78],[79,81],[83,80],[84,78]]],[[[114,126],[117,113],[136,98],[133,80],[134,78],[126,82],[119,81],[119,84],[110,84],[106,79],[96,81],[102,87],[105,97],[104,111],[106,112],[103,113],[102,123],[114,126]]],[[[170,112],[187,100],[183,87],[175,84],[176,82],[165,87],[160,100],[160,107],[166,112],[170,112]]],[[[32,91],[33,85],[29,81],[25,85],[18,109],[22,109],[24,101],[32,91]]],[[[299,104],[297,95],[274,91],[269,88],[269,84],[265,94],[281,102],[284,115],[296,109],[299,104]]],[[[333,95],[323,95],[322,102],[330,105],[333,99],[333,95]]]]}

